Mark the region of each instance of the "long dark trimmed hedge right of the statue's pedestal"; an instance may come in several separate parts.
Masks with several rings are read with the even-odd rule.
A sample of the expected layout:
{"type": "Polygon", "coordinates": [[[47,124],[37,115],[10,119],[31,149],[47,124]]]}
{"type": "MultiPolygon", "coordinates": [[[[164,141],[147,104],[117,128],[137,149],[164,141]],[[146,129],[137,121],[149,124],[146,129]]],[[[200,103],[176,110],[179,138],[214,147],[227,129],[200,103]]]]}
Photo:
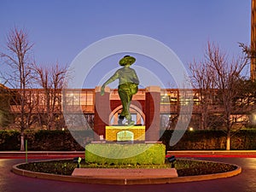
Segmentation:
{"type": "MultiPolygon", "coordinates": [[[[224,150],[226,134],[224,131],[186,131],[181,140],[170,146],[173,131],[165,131],[160,141],[167,150],[224,150]]],[[[232,133],[230,145],[233,150],[255,150],[256,130],[241,130],[232,133]]]]}

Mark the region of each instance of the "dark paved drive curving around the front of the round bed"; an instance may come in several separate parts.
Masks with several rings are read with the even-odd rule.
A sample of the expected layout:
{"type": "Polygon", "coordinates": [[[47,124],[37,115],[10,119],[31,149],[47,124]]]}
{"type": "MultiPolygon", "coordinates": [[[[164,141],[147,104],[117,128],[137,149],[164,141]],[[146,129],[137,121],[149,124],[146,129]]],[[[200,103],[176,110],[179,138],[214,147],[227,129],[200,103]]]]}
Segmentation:
{"type": "Polygon", "coordinates": [[[256,158],[200,158],[233,163],[242,167],[242,173],[236,177],[221,178],[192,183],[171,183],[152,185],[96,185],[84,183],[65,183],[32,177],[22,177],[10,172],[11,166],[24,160],[0,159],[1,192],[255,192],[256,158]]]}

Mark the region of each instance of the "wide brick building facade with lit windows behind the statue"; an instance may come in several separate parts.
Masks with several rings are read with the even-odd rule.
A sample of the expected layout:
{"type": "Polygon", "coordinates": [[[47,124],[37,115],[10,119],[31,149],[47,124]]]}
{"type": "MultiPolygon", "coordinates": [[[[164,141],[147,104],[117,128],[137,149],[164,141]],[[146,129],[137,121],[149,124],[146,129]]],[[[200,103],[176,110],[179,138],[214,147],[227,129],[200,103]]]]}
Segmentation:
{"type": "MultiPolygon", "coordinates": [[[[17,101],[10,103],[10,113],[19,115],[20,90],[11,91],[12,93],[15,93],[15,99],[17,101]]],[[[68,113],[70,117],[72,117],[71,121],[73,126],[78,127],[78,129],[81,127],[84,129],[83,123],[79,120],[81,113],[84,114],[85,119],[90,121],[90,125],[94,125],[95,115],[98,115],[96,113],[96,108],[102,108],[104,104],[109,112],[101,115],[101,117],[105,115],[104,125],[117,125],[118,115],[122,109],[122,104],[119,99],[118,90],[116,89],[109,90],[108,103],[99,102],[98,104],[96,103],[96,97],[103,97],[96,94],[96,89],[58,90],[54,94],[55,97],[51,96],[50,99],[47,99],[44,90],[26,90],[26,102],[32,103],[32,109],[28,110],[28,112],[34,114],[35,117],[47,116],[49,115],[49,104],[47,103],[49,102],[50,105],[52,105],[53,100],[55,100],[55,108],[53,108],[54,111],[52,111],[52,113],[56,115],[56,119],[60,119],[60,115],[63,112],[68,113]],[[97,105],[100,107],[96,107],[97,105]]],[[[148,113],[151,112],[147,111],[149,109],[147,109],[146,106],[151,105],[152,108],[155,108],[155,103],[153,100],[150,100],[150,94],[149,96],[147,94],[148,91],[146,89],[140,89],[132,98],[130,108],[131,116],[137,125],[146,125],[147,122],[149,122],[149,124],[152,123],[150,122],[150,119],[147,119],[148,113]]],[[[207,106],[205,106],[202,104],[204,103],[204,98],[201,96],[201,90],[188,91],[178,89],[160,89],[159,97],[157,97],[159,98],[157,100],[159,102],[160,113],[160,118],[157,124],[160,124],[160,129],[174,129],[180,113],[180,108],[182,106],[189,105],[191,102],[193,102],[193,111],[189,124],[190,127],[193,127],[195,130],[202,130],[207,129],[207,126],[212,128],[212,125],[214,124],[218,128],[218,121],[221,119],[221,115],[224,112],[224,105],[221,103],[218,90],[207,90],[207,96],[208,102],[207,106]],[[189,101],[187,97],[183,97],[183,95],[186,94],[192,94],[189,96],[191,101],[189,101]],[[203,119],[206,116],[205,113],[207,113],[207,116],[209,117],[208,125],[202,125],[202,122],[204,121],[203,119]],[[211,125],[210,121],[214,123],[211,125]]],[[[245,123],[248,122],[249,119],[251,119],[250,122],[253,122],[253,120],[256,121],[256,116],[254,118],[252,113],[255,109],[254,98],[247,98],[241,101],[237,100],[236,103],[234,103],[234,106],[236,106],[236,108],[232,111],[232,118],[235,123],[245,123]]],[[[151,119],[154,119],[154,112],[151,116],[151,119]]],[[[68,123],[67,119],[66,123],[68,123]]],[[[96,122],[97,125],[100,123],[101,122],[96,122]]]]}

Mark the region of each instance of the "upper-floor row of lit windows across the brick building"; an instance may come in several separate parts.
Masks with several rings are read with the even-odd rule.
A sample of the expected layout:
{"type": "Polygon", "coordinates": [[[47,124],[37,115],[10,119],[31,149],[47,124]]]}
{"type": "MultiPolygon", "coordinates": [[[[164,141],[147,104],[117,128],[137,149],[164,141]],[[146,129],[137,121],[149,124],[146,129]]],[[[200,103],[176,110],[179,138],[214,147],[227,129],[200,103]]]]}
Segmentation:
{"type": "MultiPolygon", "coordinates": [[[[15,92],[15,102],[12,102],[13,105],[17,105],[20,100],[20,93],[15,92]]],[[[61,102],[65,102],[66,105],[71,106],[92,106],[95,103],[95,92],[94,90],[82,90],[82,91],[73,91],[68,90],[63,95],[63,101],[61,101],[62,93],[49,93],[49,100],[47,101],[47,96],[42,90],[28,90],[26,92],[26,100],[33,102],[40,106],[47,105],[47,102],[51,105],[55,102],[56,105],[61,105],[61,102]]],[[[111,92],[110,100],[119,99],[117,91],[111,92]]],[[[133,97],[134,100],[144,100],[145,92],[139,91],[136,96],[133,97]]],[[[199,105],[204,98],[199,96],[199,92],[194,91],[180,91],[180,90],[163,90],[160,93],[160,103],[161,104],[171,104],[171,105],[188,105],[193,102],[194,105],[199,105]]],[[[220,104],[220,99],[216,91],[212,90],[207,100],[208,104],[218,105],[220,104]]],[[[247,103],[247,105],[254,104],[254,98],[246,98],[242,100],[236,100],[236,105],[247,103]]]]}

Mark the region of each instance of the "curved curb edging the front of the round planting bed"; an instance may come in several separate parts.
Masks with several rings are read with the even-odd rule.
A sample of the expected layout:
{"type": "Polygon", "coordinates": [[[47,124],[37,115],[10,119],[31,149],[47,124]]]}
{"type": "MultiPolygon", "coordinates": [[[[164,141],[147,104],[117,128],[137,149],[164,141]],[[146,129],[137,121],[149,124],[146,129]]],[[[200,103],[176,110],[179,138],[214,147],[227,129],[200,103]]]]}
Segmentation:
{"type": "MultiPolygon", "coordinates": [[[[186,183],[195,181],[205,181],[224,177],[233,177],[241,173],[241,166],[236,166],[236,170],[231,172],[221,172],[208,175],[199,176],[186,176],[186,177],[154,177],[154,178],[102,178],[102,177],[74,177],[74,176],[63,176],[55,175],[42,172],[30,172],[17,168],[25,163],[21,163],[12,167],[12,172],[15,174],[26,176],[43,178],[49,180],[57,180],[63,182],[76,182],[76,183],[90,183],[90,184],[116,184],[116,185],[131,185],[131,184],[163,184],[163,183],[186,183]]],[[[232,164],[233,165],[233,164],[232,164]]]]}

